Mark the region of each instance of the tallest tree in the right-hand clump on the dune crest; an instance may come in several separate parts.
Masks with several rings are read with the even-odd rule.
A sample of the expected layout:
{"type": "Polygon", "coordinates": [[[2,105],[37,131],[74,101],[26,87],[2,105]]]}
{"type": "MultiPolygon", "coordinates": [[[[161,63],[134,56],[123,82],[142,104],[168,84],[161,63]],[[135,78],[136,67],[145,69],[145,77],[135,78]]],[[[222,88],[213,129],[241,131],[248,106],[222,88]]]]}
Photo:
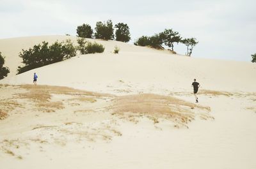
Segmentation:
{"type": "Polygon", "coordinates": [[[173,43],[179,43],[182,39],[178,32],[173,31],[172,29],[165,29],[163,33],[159,33],[159,36],[163,39],[164,45],[172,48],[173,43]]]}

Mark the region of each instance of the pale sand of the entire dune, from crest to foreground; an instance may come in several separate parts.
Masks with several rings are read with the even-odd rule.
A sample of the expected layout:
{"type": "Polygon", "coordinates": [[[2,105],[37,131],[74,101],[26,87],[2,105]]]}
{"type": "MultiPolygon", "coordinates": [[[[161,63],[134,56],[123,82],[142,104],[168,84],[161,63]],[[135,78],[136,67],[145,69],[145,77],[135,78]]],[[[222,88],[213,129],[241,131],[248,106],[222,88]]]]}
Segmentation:
{"type": "MultiPolygon", "coordinates": [[[[20,64],[17,55],[13,53],[13,60],[7,58],[12,48],[17,53],[19,48],[26,47],[20,44],[65,38],[13,38],[0,40],[0,47],[1,52],[5,52],[6,65],[15,70],[20,64]],[[3,46],[6,44],[3,41],[9,41],[9,45],[3,46]]],[[[194,59],[115,41],[99,42],[106,46],[104,54],[79,55],[17,76],[14,73],[0,81],[16,85],[1,85],[0,88],[0,109],[8,113],[6,119],[0,120],[1,166],[256,168],[255,64],[194,59]],[[120,47],[118,55],[111,53],[115,45],[120,47]],[[67,89],[45,88],[56,89],[56,93],[45,91],[40,85],[35,89],[17,86],[31,84],[34,72],[38,73],[38,84],[99,93],[77,91],[70,94],[67,89]],[[195,98],[191,94],[193,78],[198,78],[202,85],[199,105],[194,105],[195,98]],[[49,92],[51,101],[31,99],[34,96],[31,94],[38,92],[36,89],[49,92]],[[170,101],[174,101],[174,105],[164,98],[163,105],[148,102],[152,110],[157,110],[150,107],[154,103],[159,104],[155,105],[159,108],[167,104],[171,110],[175,110],[176,104],[177,111],[180,110],[178,116],[168,118],[163,112],[115,113],[116,99],[142,93],[161,94],[161,97],[187,102],[180,106],[181,103],[173,98],[170,101]],[[180,122],[179,115],[186,117],[184,112],[191,115],[188,117],[191,121],[180,122]]],[[[144,100],[141,105],[145,106],[144,100]]]]}

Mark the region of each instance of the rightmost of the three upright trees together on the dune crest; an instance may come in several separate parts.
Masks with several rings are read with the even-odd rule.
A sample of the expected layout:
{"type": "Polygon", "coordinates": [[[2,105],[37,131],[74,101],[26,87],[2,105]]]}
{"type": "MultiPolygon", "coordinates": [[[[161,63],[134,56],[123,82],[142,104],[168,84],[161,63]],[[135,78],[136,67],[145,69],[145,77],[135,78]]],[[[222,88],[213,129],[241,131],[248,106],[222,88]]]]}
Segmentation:
{"type": "Polygon", "coordinates": [[[131,34],[129,31],[129,26],[124,23],[118,23],[115,25],[116,28],[116,41],[127,42],[131,40],[131,34]]]}

